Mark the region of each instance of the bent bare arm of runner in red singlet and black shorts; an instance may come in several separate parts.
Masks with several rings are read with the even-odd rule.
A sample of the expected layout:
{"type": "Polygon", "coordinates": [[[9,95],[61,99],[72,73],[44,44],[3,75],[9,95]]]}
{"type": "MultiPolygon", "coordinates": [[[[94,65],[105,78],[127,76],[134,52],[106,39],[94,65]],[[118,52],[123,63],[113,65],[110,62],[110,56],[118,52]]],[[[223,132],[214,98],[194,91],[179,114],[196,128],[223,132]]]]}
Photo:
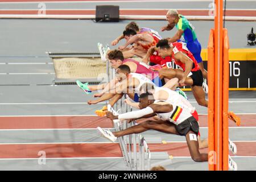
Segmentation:
{"type": "Polygon", "coordinates": [[[181,63],[184,63],[185,64],[185,71],[184,71],[184,74],[183,74],[183,78],[179,81],[179,84],[181,86],[184,86],[185,84],[185,80],[189,74],[189,72],[191,72],[191,69],[193,67],[193,61],[187,56],[185,55],[184,53],[182,52],[177,52],[175,55],[174,55],[175,59],[177,60],[180,60],[181,63]]]}

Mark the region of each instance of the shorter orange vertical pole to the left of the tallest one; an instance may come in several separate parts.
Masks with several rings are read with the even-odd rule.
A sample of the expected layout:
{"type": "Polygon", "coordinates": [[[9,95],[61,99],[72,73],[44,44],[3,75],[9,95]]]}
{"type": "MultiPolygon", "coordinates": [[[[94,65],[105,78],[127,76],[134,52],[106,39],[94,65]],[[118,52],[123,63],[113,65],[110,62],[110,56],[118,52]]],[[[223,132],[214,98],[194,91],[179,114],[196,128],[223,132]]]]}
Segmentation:
{"type": "Polygon", "coordinates": [[[214,171],[216,154],[214,151],[214,29],[210,30],[208,42],[208,164],[209,170],[214,171]]]}

